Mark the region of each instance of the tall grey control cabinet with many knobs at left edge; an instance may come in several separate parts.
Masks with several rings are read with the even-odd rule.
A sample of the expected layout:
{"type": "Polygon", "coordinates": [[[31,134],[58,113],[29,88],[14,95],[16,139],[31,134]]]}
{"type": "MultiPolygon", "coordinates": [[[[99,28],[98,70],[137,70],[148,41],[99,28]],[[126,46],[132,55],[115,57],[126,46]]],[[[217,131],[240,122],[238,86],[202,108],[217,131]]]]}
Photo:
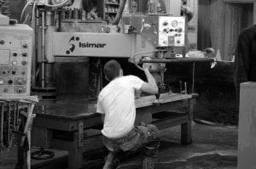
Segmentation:
{"type": "Polygon", "coordinates": [[[0,97],[29,96],[32,69],[32,28],[0,25],[0,97]]]}

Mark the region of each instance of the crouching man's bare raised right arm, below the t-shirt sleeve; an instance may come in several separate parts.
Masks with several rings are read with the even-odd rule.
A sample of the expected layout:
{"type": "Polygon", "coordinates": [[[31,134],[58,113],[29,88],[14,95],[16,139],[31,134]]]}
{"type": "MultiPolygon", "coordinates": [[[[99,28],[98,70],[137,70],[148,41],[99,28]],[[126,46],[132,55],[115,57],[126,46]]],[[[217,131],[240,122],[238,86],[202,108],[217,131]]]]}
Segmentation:
{"type": "Polygon", "coordinates": [[[149,72],[149,67],[151,64],[143,64],[143,70],[147,77],[148,82],[143,82],[142,87],[140,90],[144,93],[150,93],[150,94],[157,94],[158,93],[158,87],[154,80],[154,77],[149,72]]]}

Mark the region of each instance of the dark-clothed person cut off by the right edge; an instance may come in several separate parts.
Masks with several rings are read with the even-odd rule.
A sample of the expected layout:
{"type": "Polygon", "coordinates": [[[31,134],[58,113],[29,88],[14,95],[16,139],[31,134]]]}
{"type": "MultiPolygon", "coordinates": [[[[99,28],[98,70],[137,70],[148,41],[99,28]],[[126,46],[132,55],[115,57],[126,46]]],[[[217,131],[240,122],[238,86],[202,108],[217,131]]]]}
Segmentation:
{"type": "Polygon", "coordinates": [[[239,34],[233,77],[239,104],[240,83],[256,82],[256,25],[247,27],[239,34]]]}

